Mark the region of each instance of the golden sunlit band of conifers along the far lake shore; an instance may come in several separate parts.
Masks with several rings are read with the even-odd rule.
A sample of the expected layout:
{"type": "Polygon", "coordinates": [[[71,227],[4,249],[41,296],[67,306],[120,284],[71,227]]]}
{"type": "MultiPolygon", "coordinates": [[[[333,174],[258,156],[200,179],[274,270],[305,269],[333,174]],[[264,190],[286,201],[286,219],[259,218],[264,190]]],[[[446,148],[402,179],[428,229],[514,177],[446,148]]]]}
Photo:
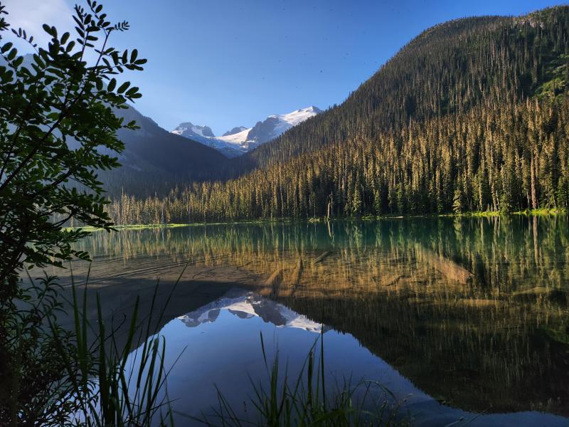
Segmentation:
{"type": "Polygon", "coordinates": [[[477,107],[400,132],[274,162],[236,179],[146,198],[121,194],[116,224],[563,210],[569,97],[477,107]]]}

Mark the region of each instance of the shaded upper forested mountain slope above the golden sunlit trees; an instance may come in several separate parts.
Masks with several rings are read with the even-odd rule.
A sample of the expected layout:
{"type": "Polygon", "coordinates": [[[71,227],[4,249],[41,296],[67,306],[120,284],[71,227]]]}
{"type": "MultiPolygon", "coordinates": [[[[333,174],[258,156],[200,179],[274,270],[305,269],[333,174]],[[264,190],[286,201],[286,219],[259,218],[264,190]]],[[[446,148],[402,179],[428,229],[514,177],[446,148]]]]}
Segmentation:
{"type": "Polygon", "coordinates": [[[568,53],[567,19],[563,6],[520,18],[484,16],[429,28],[343,104],[247,154],[241,170],[547,89],[551,73],[567,62],[561,57],[568,53]]]}

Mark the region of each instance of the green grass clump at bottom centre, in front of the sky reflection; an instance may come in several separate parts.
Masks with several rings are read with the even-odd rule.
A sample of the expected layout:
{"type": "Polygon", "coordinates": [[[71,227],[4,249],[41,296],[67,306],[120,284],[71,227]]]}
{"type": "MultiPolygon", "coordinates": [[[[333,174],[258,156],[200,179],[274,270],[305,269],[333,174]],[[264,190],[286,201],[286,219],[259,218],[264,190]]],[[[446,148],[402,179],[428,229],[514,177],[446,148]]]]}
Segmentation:
{"type": "MultiPolygon", "coordinates": [[[[324,364],[324,334],[314,342],[302,369],[289,378],[288,369],[281,369],[277,352],[272,364],[267,361],[265,342],[260,335],[268,386],[250,378],[254,411],[242,416],[218,390],[218,406],[213,413],[193,418],[208,426],[406,426],[398,415],[395,396],[376,381],[344,379],[341,384],[326,386],[324,364]],[[315,354],[320,343],[319,357],[315,354]]],[[[177,411],[176,411],[177,412],[177,411]]]]}

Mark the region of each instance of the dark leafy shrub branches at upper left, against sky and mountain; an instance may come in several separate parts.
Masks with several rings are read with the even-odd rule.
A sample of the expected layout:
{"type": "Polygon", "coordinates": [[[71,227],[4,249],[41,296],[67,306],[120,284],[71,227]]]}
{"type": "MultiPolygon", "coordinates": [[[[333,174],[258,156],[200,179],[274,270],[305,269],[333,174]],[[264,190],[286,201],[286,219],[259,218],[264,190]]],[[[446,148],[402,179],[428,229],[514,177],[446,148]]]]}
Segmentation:
{"type": "MultiPolygon", "coordinates": [[[[0,302],[16,295],[17,271],[29,266],[61,265],[74,251],[71,243],[84,231],[63,231],[70,218],[110,230],[106,199],[97,170],[119,166],[114,153],[124,145],[117,138],[123,123],[117,109],[141,95],[115,75],[142,70],[146,62],[137,50],[119,53],[108,46],[110,36],[126,31],[127,22],[111,24],[102,6],[87,0],[75,6],[77,37],[43,30],[51,40],[36,46],[21,28],[13,33],[34,49],[20,56],[13,43],[4,43],[9,23],[0,21],[0,302]],[[88,61],[87,58],[95,56],[88,61]],[[117,87],[118,86],[118,87],[117,87]],[[111,154],[104,154],[111,153],[111,154]],[[55,214],[63,219],[52,221],[55,214]],[[6,284],[7,282],[7,284],[6,284]]],[[[0,15],[6,14],[0,4],[0,15]]]]}

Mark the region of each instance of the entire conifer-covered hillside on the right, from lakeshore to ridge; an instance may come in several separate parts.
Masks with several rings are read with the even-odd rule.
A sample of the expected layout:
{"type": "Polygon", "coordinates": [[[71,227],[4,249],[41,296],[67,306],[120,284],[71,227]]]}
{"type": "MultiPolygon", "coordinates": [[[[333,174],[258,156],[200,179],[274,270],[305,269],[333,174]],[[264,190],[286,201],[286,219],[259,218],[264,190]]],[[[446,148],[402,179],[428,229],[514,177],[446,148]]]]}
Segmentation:
{"type": "Polygon", "coordinates": [[[423,32],[342,105],[119,222],[565,207],[569,7],[423,32]]]}

